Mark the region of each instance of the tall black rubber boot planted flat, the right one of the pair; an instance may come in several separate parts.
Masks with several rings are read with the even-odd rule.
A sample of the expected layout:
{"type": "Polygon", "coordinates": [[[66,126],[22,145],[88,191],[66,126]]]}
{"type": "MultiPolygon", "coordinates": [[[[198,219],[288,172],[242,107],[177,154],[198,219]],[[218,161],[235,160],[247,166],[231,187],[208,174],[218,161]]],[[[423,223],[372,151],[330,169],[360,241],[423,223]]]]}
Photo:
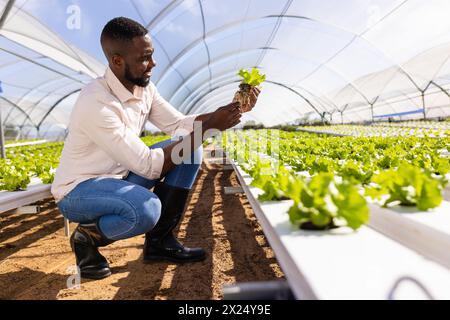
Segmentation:
{"type": "Polygon", "coordinates": [[[159,182],[153,191],[161,201],[161,217],[156,226],[145,234],[144,262],[167,260],[194,262],[206,258],[201,248],[184,247],[173,235],[184,214],[189,189],[159,182]]]}

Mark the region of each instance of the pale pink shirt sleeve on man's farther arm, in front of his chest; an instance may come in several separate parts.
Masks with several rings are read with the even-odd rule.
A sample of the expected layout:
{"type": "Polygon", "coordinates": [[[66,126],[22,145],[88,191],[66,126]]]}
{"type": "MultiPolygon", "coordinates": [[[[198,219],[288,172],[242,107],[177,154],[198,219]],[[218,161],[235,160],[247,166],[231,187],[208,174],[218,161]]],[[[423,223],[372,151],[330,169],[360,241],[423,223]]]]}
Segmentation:
{"type": "Polygon", "coordinates": [[[171,136],[183,136],[191,133],[198,115],[183,115],[159,94],[153,84],[151,85],[153,99],[148,120],[159,130],[171,136]]]}

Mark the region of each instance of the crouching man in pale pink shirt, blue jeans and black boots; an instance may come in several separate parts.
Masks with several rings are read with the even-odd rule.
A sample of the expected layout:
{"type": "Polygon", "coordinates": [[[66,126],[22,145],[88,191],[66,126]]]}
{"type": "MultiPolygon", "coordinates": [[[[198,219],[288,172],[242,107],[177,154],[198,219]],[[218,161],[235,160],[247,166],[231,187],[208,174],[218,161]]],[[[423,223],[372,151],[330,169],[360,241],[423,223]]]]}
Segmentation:
{"type": "Polygon", "coordinates": [[[172,231],[202,161],[204,133],[238,124],[239,103],[202,115],[178,112],[150,82],[154,48],[133,20],[109,21],[101,45],[109,67],[80,92],[51,189],[64,217],[79,223],[70,243],[81,276],[111,275],[98,248],[140,234],[144,261],[201,261],[205,251],[183,246],[172,231]],[[147,147],[139,138],[147,121],[183,138],[147,147]],[[196,134],[194,122],[201,124],[196,134]]]}

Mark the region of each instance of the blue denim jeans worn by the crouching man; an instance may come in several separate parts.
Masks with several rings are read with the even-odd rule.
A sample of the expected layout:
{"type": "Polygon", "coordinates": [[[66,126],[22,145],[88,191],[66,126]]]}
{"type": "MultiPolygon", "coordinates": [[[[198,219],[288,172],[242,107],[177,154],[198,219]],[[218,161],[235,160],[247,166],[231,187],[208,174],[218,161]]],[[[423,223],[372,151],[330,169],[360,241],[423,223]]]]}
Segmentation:
{"type": "MultiPolygon", "coordinates": [[[[161,148],[171,142],[162,141],[150,146],[150,149],[161,148]]],[[[202,147],[192,152],[190,161],[169,171],[164,182],[191,189],[200,168],[202,153],[202,147]]],[[[150,231],[158,222],[161,202],[148,189],[161,179],[150,180],[133,172],[123,180],[92,178],[79,183],[57,205],[70,221],[90,223],[98,220],[100,230],[108,239],[127,239],[150,231]]]]}

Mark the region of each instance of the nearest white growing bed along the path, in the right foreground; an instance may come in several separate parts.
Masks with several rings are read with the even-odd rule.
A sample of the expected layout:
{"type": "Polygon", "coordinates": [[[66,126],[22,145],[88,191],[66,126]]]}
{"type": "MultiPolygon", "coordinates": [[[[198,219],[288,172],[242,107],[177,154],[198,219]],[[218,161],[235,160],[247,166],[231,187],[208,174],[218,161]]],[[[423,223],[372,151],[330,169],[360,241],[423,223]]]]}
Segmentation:
{"type": "Polygon", "coordinates": [[[296,298],[450,297],[450,273],[444,266],[368,227],[302,231],[289,222],[292,201],[259,202],[262,191],[250,187],[251,177],[231,163],[296,298]],[[403,281],[428,293],[399,291],[403,281]]]}

